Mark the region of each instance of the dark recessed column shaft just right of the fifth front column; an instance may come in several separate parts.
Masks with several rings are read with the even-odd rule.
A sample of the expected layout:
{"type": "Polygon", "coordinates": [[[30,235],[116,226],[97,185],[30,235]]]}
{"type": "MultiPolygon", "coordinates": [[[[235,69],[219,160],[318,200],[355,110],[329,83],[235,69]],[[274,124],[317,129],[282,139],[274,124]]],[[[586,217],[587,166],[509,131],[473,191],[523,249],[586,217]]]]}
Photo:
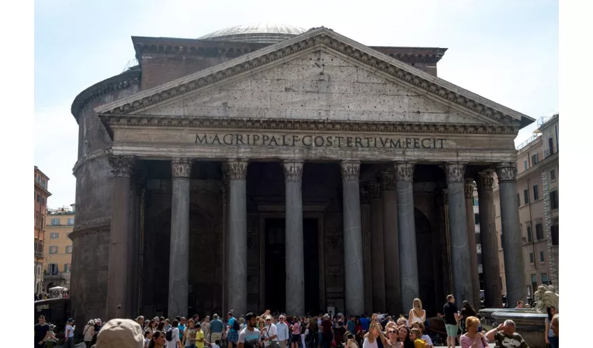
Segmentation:
{"type": "Polygon", "coordinates": [[[383,253],[383,200],[381,184],[373,180],[368,184],[370,204],[370,265],[373,269],[373,311],[384,313],[385,306],[385,264],[383,253]]]}

